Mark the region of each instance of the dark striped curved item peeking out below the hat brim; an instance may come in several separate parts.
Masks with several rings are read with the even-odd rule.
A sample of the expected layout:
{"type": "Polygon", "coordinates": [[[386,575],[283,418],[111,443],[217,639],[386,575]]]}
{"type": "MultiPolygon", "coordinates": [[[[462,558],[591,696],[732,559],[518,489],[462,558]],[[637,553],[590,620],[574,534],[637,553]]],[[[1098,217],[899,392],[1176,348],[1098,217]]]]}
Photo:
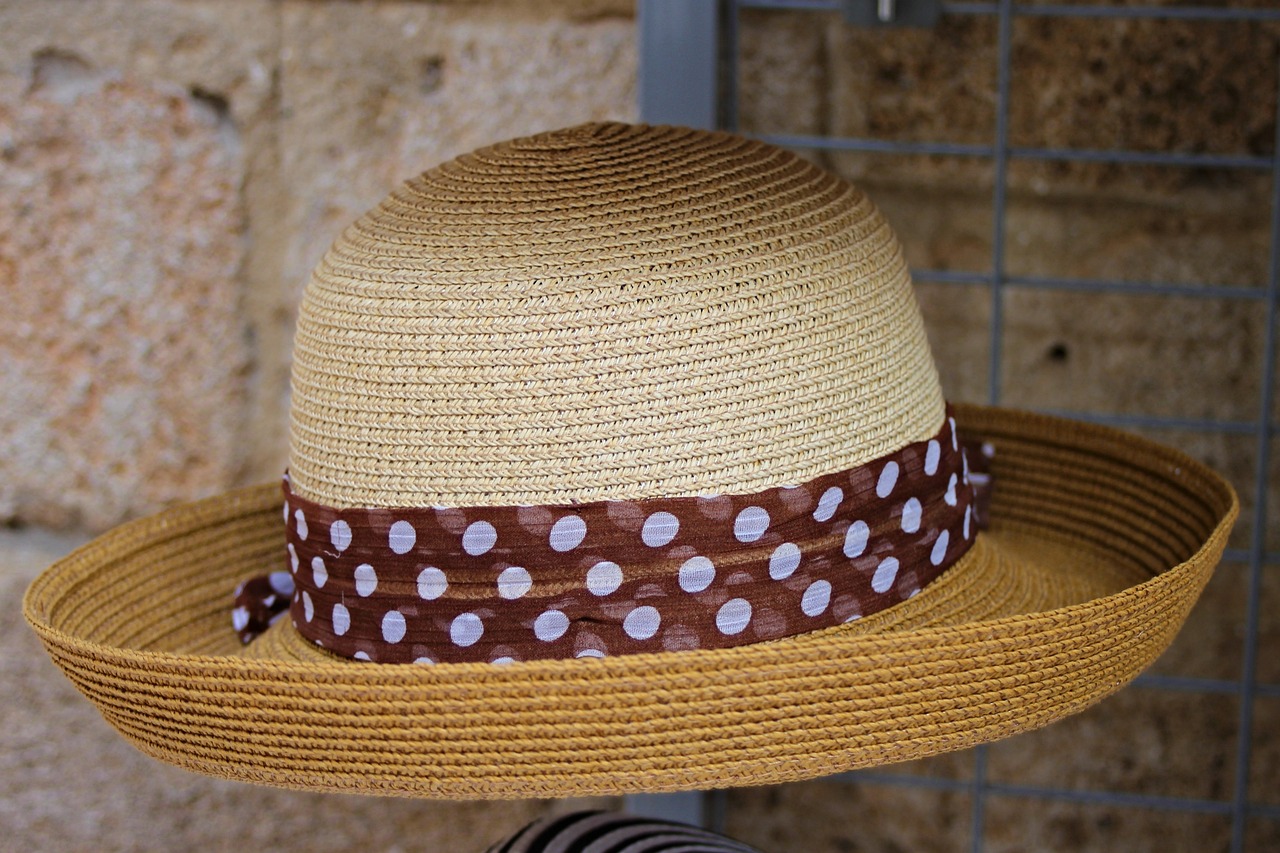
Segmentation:
{"type": "Polygon", "coordinates": [[[762,853],[709,830],[614,812],[534,821],[486,853],[762,853]]]}

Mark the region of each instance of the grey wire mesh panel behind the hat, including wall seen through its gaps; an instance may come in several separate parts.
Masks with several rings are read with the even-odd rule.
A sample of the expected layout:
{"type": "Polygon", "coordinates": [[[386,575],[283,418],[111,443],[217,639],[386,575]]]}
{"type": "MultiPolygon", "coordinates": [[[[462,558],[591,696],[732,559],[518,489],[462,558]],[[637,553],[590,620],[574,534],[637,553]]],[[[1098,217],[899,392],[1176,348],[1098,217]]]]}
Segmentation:
{"type": "Polygon", "coordinates": [[[1170,652],[1096,708],[710,811],[780,850],[1280,849],[1280,9],[943,3],[913,28],[850,24],[856,1],[721,3],[705,123],[877,201],[950,398],[1179,446],[1242,520],[1170,652]]]}

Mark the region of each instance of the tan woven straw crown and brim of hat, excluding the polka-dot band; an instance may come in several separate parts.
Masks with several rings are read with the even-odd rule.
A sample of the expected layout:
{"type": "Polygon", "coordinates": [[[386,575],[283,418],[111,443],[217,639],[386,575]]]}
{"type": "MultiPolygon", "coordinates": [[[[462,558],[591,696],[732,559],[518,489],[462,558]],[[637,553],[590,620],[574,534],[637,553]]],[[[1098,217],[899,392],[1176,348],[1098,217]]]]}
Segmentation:
{"type": "MultiPolygon", "coordinates": [[[[335,243],[305,297],[292,479],[328,506],[750,492],[932,434],[942,398],[876,209],[727,134],[588,126],[439,167],[335,243]]],[[[276,485],[113,530],[26,615],[142,751],[218,776],[436,798],[759,785],[1034,729],[1169,644],[1236,515],[1194,460],[957,407],[991,528],[914,598],[735,648],[376,665],[232,588],[279,567],[276,485]]]]}

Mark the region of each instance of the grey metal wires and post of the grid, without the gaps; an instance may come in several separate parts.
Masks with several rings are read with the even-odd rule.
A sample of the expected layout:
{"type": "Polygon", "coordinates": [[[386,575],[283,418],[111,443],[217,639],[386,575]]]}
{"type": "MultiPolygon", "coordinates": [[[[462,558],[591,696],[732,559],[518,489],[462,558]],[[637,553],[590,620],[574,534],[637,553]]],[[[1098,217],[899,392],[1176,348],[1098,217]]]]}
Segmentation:
{"type": "MultiPolygon", "coordinates": [[[[868,0],[870,1],[870,0],[868,0]]],[[[841,0],[640,0],[641,28],[641,113],[645,120],[675,120],[686,124],[718,124],[737,129],[739,14],[744,9],[840,12],[841,0]],[[717,63],[718,60],[718,63],[717,63]],[[678,86],[668,85],[678,79],[678,86]],[[708,105],[712,105],[708,108],[708,105]],[[714,113],[710,110],[714,109],[714,113]]],[[[970,273],[913,269],[918,282],[979,284],[989,288],[991,328],[987,362],[988,401],[1001,402],[1001,355],[1004,352],[1004,302],[1009,288],[1038,288],[1093,293],[1243,300],[1260,302],[1265,311],[1265,337],[1261,364],[1261,391],[1253,420],[1165,418],[1142,414],[1100,414],[1056,411],[1070,418],[1117,426],[1196,430],[1252,437],[1256,446],[1251,484],[1253,497],[1252,532],[1247,548],[1231,548],[1225,560],[1245,564],[1247,606],[1244,613],[1243,665],[1239,679],[1207,679],[1169,675],[1143,675],[1137,684],[1161,690],[1233,695],[1239,701],[1234,794],[1230,800],[1162,797],[1110,790],[1073,790],[992,783],[987,777],[987,752],[974,751],[972,780],[934,779],[858,771],[845,776],[861,784],[897,785],[969,793],[972,797],[970,849],[983,845],[984,808],[988,794],[1050,799],[1084,804],[1140,807],[1175,812],[1198,812],[1231,818],[1233,852],[1244,849],[1245,820],[1280,820],[1280,807],[1248,799],[1249,761],[1253,740],[1254,699],[1280,697],[1280,684],[1258,683],[1258,602],[1265,566],[1280,564],[1280,555],[1266,552],[1267,480],[1271,465],[1271,438],[1280,434],[1272,420],[1276,357],[1276,305],[1280,301],[1280,102],[1276,104],[1276,138],[1270,156],[1215,154],[1149,152],[1125,150],[1075,150],[1019,147],[1009,142],[1012,22],[1016,17],[1169,19],[1202,22],[1280,20],[1280,9],[1230,9],[1207,6],[1097,6],[1097,5],[1015,5],[996,3],[943,3],[943,15],[987,15],[997,20],[996,127],[991,145],[951,142],[892,142],[874,138],[837,138],[801,134],[762,134],[769,142],[792,149],[883,152],[896,155],[943,155],[978,158],[993,164],[993,225],[991,272],[970,273]],[[1193,167],[1265,172],[1271,177],[1268,260],[1265,287],[1184,284],[1162,280],[1111,280],[1062,277],[1010,275],[1005,269],[1005,231],[1007,213],[1009,164],[1012,160],[1083,161],[1120,165],[1193,167]]],[[[1256,61],[1270,59],[1256,58],[1256,61]]],[[[1280,74],[1280,65],[1275,69],[1280,74]]],[[[1280,92],[1280,86],[1277,86],[1280,92]]],[[[637,811],[690,820],[700,816],[712,826],[723,826],[726,797],[717,792],[707,798],[635,798],[637,811]],[[700,815],[699,815],[700,813],[700,815]]]]}

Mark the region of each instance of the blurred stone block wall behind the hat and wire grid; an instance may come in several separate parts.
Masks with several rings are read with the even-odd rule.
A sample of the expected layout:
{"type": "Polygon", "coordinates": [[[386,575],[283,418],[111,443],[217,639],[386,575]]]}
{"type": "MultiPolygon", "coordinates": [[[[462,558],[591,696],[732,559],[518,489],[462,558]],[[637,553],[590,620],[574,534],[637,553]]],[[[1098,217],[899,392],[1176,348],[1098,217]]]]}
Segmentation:
{"type": "MultiPolygon", "coordinates": [[[[991,142],[991,17],[886,35],[833,14],[755,10],[737,27],[745,131],[991,142]]],[[[96,532],[274,479],[294,304],[338,231],[449,156],[637,118],[636,36],[627,0],[0,3],[0,849],[466,852],[582,804],[321,797],[157,765],[77,697],[19,601],[45,564],[96,532]]],[[[1275,22],[1023,19],[1011,38],[1012,145],[1275,156],[1275,22]]],[[[913,266],[989,268],[989,163],[810,154],[870,192],[913,266]]],[[[1007,181],[1009,275],[1275,286],[1266,169],[1019,161],[1007,181]]],[[[991,398],[989,289],[918,291],[947,394],[991,398]]],[[[778,853],[966,849],[978,777],[1084,793],[997,792],[984,800],[984,849],[1229,849],[1230,809],[1197,803],[1239,790],[1251,589],[1240,555],[1256,497],[1280,498],[1280,476],[1268,467],[1270,485],[1256,488],[1247,428],[1194,425],[1260,418],[1265,305],[1030,287],[1001,302],[1002,402],[1187,421],[1146,432],[1236,483],[1235,561],[1156,666],[1228,686],[1132,688],[980,758],[733,792],[721,800],[728,831],[778,853]],[[1126,793],[1148,799],[1126,806],[1115,795],[1126,793]]],[[[1272,539],[1268,553],[1280,551],[1272,539]]],[[[1260,578],[1251,678],[1275,685],[1280,579],[1270,564],[1260,578]]],[[[1280,692],[1252,702],[1244,798],[1257,808],[1234,836],[1280,849],[1280,692]]]]}

